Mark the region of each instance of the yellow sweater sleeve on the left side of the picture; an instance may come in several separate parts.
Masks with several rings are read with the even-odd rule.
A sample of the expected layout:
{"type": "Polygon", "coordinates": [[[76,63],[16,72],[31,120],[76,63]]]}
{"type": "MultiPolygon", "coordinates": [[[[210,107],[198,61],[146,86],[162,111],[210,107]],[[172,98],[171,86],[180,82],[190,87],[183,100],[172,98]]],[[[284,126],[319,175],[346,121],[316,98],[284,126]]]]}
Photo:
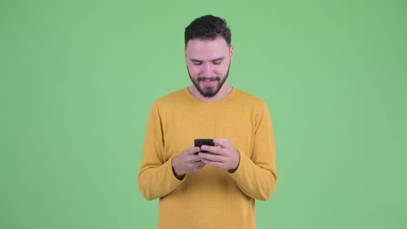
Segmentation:
{"type": "Polygon", "coordinates": [[[172,172],[172,158],[164,159],[163,126],[157,103],[154,103],[147,121],[143,156],[139,170],[139,190],[146,199],[166,196],[175,190],[180,181],[172,172]]]}

